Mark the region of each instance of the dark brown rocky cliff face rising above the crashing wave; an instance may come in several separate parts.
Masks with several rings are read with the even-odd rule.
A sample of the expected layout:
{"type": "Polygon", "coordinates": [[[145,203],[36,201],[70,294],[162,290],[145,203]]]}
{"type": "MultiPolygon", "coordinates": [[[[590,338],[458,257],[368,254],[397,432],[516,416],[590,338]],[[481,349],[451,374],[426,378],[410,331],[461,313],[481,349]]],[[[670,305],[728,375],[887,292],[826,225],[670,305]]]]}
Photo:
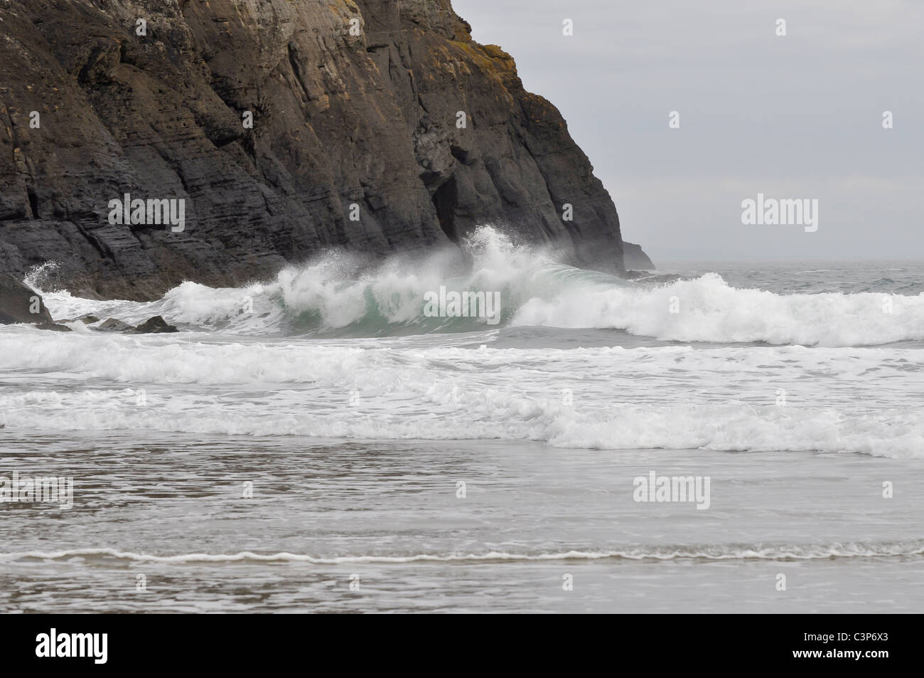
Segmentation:
{"type": "Polygon", "coordinates": [[[76,293],[150,299],[491,222],[623,270],[565,121],[448,0],[6,0],[0,19],[0,271],[54,260],[76,293]],[[126,193],[184,200],[184,230],[109,223],[126,193]]]}

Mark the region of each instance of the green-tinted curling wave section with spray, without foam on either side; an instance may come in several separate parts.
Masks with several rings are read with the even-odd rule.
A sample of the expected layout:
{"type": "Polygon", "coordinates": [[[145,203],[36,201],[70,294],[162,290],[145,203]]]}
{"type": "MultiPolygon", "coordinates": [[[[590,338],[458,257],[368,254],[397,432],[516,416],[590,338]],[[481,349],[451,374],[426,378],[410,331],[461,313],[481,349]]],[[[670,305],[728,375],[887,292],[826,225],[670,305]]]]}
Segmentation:
{"type": "Polygon", "coordinates": [[[515,247],[492,228],[465,245],[468,270],[441,254],[395,258],[351,275],[344,256],[280,273],[271,292],[280,330],[319,337],[385,337],[505,327],[530,300],[565,290],[625,286],[617,277],[559,264],[548,253],[515,247]]]}

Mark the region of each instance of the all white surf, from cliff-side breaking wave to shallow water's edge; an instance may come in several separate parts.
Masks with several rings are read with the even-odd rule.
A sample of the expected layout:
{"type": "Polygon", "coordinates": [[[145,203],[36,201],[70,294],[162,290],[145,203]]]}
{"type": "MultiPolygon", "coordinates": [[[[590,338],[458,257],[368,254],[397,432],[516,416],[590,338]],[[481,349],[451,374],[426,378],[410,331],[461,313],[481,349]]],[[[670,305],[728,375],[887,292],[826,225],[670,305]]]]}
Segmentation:
{"type": "Polygon", "coordinates": [[[715,274],[645,287],[558,264],[492,228],[472,236],[468,253],[468,274],[456,278],[446,253],[372,269],[340,253],[243,288],[183,283],[155,302],[46,293],[59,319],[163,314],[186,331],[0,327],[0,423],[5,435],[136,429],[924,456],[924,350],[875,348],[924,339],[924,295],[775,294],[715,274]],[[423,316],[424,293],[447,281],[503,290],[503,323],[518,326],[508,333],[618,328],[752,345],[454,348],[498,334],[480,318],[423,316]],[[869,348],[848,348],[857,345],[869,348]]]}

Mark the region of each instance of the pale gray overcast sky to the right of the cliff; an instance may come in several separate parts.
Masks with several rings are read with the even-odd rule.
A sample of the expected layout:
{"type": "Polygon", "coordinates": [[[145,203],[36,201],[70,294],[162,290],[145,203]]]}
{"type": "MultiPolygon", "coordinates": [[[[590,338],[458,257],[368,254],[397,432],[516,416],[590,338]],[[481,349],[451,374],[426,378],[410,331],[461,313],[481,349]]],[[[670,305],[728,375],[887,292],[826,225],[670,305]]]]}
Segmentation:
{"type": "Polygon", "coordinates": [[[558,106],[655,264],[924,259],[924,0],[453,6],[558,106]],[[743,225],[759,192],[818,199],[818,230],[743,225]]]}

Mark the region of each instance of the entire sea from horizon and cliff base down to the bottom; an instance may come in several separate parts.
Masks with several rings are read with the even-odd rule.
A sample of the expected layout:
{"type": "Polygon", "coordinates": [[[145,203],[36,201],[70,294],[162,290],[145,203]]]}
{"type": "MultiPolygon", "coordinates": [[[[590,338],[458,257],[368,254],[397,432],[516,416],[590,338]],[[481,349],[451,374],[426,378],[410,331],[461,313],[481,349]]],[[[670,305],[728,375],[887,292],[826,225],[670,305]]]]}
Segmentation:
{"type": "Polygon", "coordinates": [[[74,331],[0,326],[0,476],[72,505],[0,503],[0,611],[920,610],[924,263],[658,264],[481,228],[154,302],[36,269],[74,331]]]}

